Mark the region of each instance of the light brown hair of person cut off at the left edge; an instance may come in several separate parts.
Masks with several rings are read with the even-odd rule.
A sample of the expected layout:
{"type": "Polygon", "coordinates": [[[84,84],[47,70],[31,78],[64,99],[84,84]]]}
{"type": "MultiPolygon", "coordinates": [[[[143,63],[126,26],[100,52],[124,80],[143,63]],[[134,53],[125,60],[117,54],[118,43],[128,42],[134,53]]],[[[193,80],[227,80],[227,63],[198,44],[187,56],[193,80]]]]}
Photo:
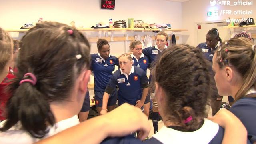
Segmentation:
{"type": "Polygon", "coordinates": [[[0,28],[0,73],[3,72],[6,64],[12,57],[12,38],[9,34],[0,28]]]}

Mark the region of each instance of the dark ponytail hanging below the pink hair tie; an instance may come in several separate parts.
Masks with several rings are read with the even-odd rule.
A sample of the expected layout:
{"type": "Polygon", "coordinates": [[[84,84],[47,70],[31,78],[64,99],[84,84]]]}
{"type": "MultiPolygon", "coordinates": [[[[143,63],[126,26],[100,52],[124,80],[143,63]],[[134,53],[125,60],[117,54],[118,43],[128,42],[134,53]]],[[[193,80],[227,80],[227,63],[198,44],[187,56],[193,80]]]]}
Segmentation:
{"type": "Polygon", "coordinates": [[[36,86],[28,82],[19,85],[19,80],[15,80],[10,84],[9,92],[13,95],[6,104],[7,120],[0,131],[6,131],[20,121],[33,137],[42,138],[47,133],[48,124],[53,126],[55,123],[50,106],[36,86]]]}

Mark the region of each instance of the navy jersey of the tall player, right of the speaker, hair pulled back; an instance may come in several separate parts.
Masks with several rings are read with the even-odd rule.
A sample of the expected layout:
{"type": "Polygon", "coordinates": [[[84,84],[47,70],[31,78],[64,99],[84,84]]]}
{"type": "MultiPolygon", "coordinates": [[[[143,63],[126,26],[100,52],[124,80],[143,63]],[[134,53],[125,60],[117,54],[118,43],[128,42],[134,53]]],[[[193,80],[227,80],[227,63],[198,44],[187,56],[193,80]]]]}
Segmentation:
{"type": "Polygon", "coordinates": [[[152,63],[154,62],[154,60],[156,59],[158,54],[161,54],[162,52],[153,46],[144,48],[142,50],[142,53],[149,58],[150,67],[152,67],[152,63]]]}

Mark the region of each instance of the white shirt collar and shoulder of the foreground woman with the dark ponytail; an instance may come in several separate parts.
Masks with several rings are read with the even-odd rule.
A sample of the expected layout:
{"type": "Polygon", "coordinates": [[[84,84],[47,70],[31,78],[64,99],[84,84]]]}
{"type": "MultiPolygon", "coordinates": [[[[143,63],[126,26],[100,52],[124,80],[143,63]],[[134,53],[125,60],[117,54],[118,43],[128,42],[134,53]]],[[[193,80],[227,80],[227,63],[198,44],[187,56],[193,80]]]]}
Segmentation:
{"type": "MultiPolygon", "coordinates": [[[[5,121],[0,123],[0,127],[3,126],[4,122],[5,121]]],[[[44,138],[57,134],[58,132],[61,132],[62,130],[65,130],[77,124],[79,124],[77,115],[57,122],[55,126],[50,127],[48,134],[46,134],[44,138]]],[[[20,122],[18,122],[9,130],[5,132],[0,132],[0,144],[32,144],[34,142],[37,142],[38,140],[40,139],[34,138],[27,131],[22,130],[20,122]]]]}

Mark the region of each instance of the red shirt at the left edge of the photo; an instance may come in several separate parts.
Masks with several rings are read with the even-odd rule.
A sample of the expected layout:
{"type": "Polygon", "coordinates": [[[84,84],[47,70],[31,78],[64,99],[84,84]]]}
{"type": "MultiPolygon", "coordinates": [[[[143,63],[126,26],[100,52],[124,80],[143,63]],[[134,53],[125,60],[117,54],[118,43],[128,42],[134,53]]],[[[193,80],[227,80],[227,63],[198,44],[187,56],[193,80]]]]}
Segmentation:
{"type": "MultiPolygon", "coordinates": [[[[11,69],[10,69],[11,70],[11,69]]],[[[6,118],[3,116],[4,108],[6,103],[10,97],[10,94],[5,92],[5,88],[10,84],[9,80],[15,78],[12,72],[9,72],[6,78],[0,84],[0,120],[5,120],[6,118]]]]}

